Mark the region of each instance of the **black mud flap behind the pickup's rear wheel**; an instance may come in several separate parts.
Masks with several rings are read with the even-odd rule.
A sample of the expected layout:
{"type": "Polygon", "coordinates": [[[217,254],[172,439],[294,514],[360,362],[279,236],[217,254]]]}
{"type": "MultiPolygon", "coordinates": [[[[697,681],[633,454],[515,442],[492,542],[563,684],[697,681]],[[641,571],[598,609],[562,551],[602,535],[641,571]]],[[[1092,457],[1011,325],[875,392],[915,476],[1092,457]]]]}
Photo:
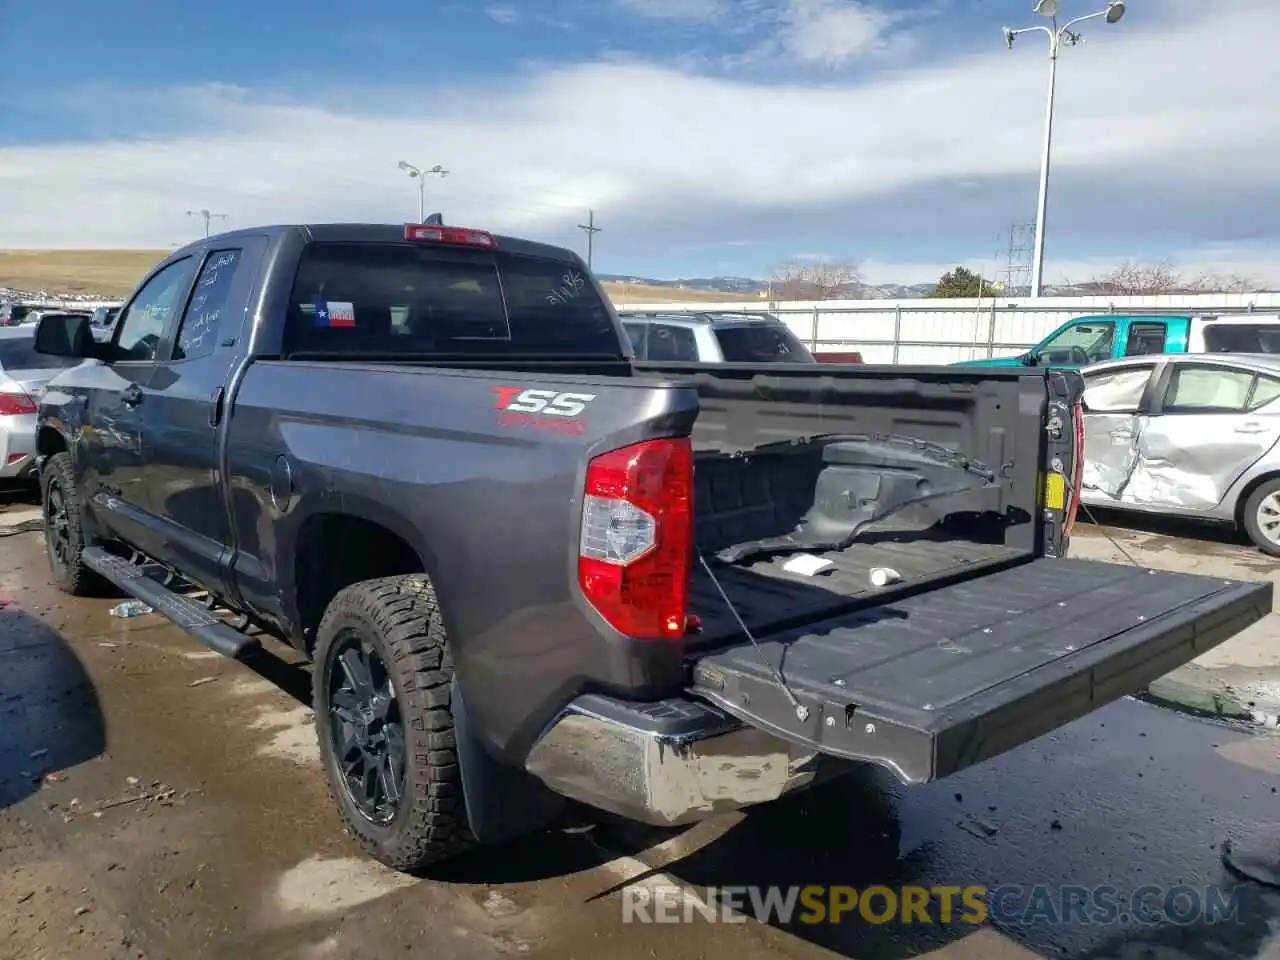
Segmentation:
{"type": "Polygon", "coordinates": [[[498,763],[475,733],[458,678],[451,687],[453,736],[467,806],[467,823],[481,844],[532,833],[554,823],[564,799],[525,771],[498,763]]]}

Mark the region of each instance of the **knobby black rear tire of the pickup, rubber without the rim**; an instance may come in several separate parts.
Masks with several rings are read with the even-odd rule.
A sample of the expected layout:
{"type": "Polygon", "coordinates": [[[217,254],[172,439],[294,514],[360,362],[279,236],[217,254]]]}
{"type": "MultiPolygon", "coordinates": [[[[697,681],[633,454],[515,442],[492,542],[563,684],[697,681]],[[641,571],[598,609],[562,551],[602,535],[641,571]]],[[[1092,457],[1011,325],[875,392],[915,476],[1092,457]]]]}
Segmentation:
{"type": "Polygon", "coordinates": [[[425,576],[366,580],[333,598],[320,621],[312,671],[320,758],[347,831],[369,855],[397,870],[419,870],[475,845],[458,769],[452,680],[444,620],[425,576]],[[332,654],[339,634],[352,628],[387,666],[404,724],[404,796],[399,813],[385,826],[372,823],[351,803],[332,742],[332,654]]]}

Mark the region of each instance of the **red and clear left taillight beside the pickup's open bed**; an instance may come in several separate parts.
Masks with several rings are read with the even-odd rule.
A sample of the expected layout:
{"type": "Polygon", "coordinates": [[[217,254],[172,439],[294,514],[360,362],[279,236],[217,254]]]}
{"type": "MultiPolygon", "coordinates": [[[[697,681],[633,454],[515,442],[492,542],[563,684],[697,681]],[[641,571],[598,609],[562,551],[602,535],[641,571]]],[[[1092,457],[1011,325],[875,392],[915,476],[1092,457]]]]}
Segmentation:
{"type": "Polygon", "coordinates": [[[577,580],[620,634],[685,635],[694,556],[694,452],[689,438],[645,440],[586,467],[577,580]]]}

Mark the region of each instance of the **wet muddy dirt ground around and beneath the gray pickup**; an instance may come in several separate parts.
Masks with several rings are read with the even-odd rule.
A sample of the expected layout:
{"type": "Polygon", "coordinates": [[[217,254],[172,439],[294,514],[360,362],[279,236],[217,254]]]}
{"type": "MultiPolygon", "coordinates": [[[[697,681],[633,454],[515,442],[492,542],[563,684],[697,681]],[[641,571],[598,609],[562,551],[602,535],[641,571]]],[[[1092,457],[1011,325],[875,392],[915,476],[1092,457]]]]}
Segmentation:
{"type": "MultiPolygon", "coordinates": [[[[1088,539],[1092,534],[1084,532],[1088,539]]],[[[1188,548],[1212,553],[1230,544],[1188,548]]],[[[1101,548],[1098,548],[1101,549],[1101,548]]],[[[261,673],[46,584],[0,539],[0,957],[1280,957],[1280,891],[1221,845],[1280,829],[1280,736],[1124,700],[960,776],[874,771],[685,832],[602,823],[424,878],[362,859],[326,796],[306,668],[261,673]],[[264,676],[265,673],[265,676],[264,676]],[[637,886],[1220,886],[1234,920],[623,923],[637,886]],[[630,892],[628,892],[630,891],[630,892]]],[[[1015,905],[1016,906],[1016,905],[1015,905]]]]}

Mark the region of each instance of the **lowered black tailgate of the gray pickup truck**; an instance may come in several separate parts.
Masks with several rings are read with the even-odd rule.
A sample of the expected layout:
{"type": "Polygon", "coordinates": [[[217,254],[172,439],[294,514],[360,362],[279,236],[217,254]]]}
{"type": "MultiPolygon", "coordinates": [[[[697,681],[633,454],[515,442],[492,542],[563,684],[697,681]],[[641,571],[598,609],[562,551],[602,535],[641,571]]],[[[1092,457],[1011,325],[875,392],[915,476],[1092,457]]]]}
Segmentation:
{"type": "Polygon", "coordinates": [[[696,657],[691,692],[906,782],[1055,730],[1271,612],[1270,581],[1037,559],[696,657]],[[777,667],[806,716],[778,685],[777,667]]]}

